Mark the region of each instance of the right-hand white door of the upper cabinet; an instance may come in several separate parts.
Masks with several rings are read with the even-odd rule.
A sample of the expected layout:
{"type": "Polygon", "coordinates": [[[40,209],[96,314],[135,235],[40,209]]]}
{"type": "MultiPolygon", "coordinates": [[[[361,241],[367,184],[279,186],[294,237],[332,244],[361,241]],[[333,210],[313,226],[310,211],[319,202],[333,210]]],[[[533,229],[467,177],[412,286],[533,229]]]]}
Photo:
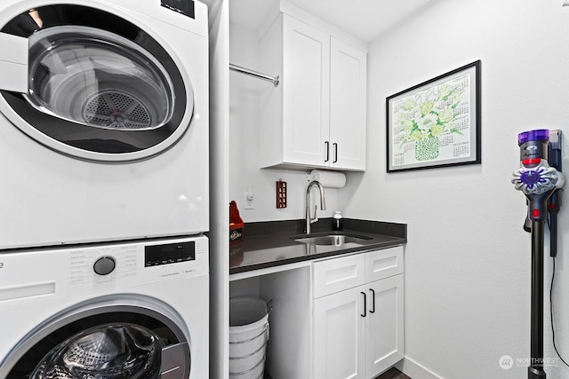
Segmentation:
{"type": "Polygon", "coordinates": [[[365,170],[367,55],[331,38],[330,165],[365,170]]]}

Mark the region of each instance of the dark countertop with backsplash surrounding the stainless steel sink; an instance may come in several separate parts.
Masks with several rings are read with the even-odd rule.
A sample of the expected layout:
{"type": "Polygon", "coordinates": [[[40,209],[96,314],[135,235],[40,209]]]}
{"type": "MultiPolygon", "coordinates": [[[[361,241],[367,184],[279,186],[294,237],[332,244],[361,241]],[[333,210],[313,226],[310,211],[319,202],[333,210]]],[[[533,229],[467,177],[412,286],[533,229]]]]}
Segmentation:
{"type": "Polygon", "coordinates": [[[312,225],[310,237],[335,233],[365,237],[365,241],[359,241],[357,244],[328,246],[294,241],[294,237],[305,236],[303,229],[303,219],[246,223],[243,241],[229,247],[229,274],[322,257],[386,249],[407,242],[406,224],[344,218],[341,232],[333,232],[332,218],[322,218],[312,225]]]}

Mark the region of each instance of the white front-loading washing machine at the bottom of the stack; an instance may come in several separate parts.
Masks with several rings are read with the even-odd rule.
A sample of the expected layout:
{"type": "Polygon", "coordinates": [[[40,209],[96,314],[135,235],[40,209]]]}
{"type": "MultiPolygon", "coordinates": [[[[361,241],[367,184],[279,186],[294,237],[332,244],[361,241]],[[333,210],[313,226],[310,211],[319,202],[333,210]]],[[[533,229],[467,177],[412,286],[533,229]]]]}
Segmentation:
{"type": "Polygon", "coordinates": [[[0,253],[0,377],[206,379],[204,236],[0,253]]]}

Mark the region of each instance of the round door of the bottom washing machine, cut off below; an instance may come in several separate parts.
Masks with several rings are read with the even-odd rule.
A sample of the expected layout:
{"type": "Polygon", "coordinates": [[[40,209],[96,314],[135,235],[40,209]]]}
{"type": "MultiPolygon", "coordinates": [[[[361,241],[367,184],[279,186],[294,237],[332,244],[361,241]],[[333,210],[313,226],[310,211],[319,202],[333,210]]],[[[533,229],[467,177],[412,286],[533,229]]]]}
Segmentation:
{"type": "Polygon", "coordinates": [[[188,332],[180,316],[145,296],[106,296],[46,320],[8,354],[5,379],[187,379],[188,332]]]}

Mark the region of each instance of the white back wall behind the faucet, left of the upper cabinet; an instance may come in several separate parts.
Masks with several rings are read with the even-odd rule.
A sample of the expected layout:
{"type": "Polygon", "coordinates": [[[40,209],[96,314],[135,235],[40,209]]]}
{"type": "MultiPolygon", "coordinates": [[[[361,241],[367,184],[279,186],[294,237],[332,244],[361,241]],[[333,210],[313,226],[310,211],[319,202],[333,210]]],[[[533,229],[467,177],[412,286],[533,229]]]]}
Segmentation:
{"type": "MultiPolygon", "coordinates": [[[[230,62],[259,71],[257,26],[230,20],[230,62]]],[[[267,73],[280,75],[279,73],[267,73]]],[[[232,71],[229,75],[229,197],[237,202],[245,222],[289,220],[304,217],[305,193],[309,182],[304,170],[260,170],[260,92],[271,83],[232,71]],[[287,208],[276,209],[276,181],[288,185],[287,208]],[[253,188],[254,209],[244,209],[244,193],[253,188]]],[[[312,191],[317,204],[317,190],[312,191]]],[[[337,210],[338,190],[325,188],[326,210],[318,217],[332,217],[337,210]]],[[[246,233],[246,231],[245,231],[246,233]]]]}

